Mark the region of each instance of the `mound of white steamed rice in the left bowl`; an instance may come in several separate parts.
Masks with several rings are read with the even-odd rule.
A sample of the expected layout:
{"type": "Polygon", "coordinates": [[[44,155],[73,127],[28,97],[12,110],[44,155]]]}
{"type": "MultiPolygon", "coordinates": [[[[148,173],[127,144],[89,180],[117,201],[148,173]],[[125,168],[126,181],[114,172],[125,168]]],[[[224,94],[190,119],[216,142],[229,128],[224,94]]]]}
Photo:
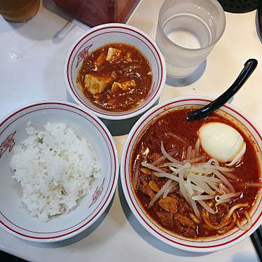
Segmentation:
{"type": "Polygon", "coordinates": [[[48,221],[78,205],[100,167],[90,143],[64,123],[47,123],[44,130],[28,123],[26,131],[29,137],[15,146],[11,169],[29,212],[48,221]]]}

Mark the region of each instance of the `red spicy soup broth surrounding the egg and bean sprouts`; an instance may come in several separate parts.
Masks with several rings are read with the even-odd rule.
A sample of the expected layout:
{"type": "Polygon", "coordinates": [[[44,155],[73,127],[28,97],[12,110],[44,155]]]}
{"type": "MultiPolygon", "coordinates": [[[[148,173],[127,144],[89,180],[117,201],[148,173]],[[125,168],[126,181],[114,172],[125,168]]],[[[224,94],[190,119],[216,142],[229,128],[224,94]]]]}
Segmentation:
{"type": "MultiPolygon", "coordinates": [[[[178,154],[174,158],[177,160],[182,160],[184,158],[186,145],[194,145],[198,139],[198,130],[199,128],[209,122],[221,122],[226,123],[234,127],[246,143],[247,149],[242,158],[242,162],[235,167],[233,174],[238,178],[237,181],[230,180],[230,183],[235,188],[235,191],[242,191],[242,195],[239,197],[231,198],[230,202],[221,203],[218,205],[218,212],[216,214],[209,214],[209,222],[214,226],[218,226],[223,217],[228,214],[228,210],[233,205],[237,203],[247,202],[248,206],[241,209],[237,209],[237,212],[234,217],[237,219],[245,219],[244,212],[248,211],[256,200],[256,195],[258,193],[258,187],[249,187],[246,188],[243,186],[245,182],[258,182],[259,181],[259,170],[258,170],[258,160],[256,157],[256,152],[254,146],[244,133],[233,123],[230,123],[228,120],[219,116],[217,114],[212,114],[205,120],[195,120],[188,121],[186,120],[186,115],[191,109],[183,109],[180,111],[173,111],[165,114],[158,118],[154,123],[149,125],[149,127],[144,131],[142,136],[139,138],[139,141],[135,145],[135,149],[132,155],[131,161],[131,181],[133,184],[133,190],[137,196],[140,204],[144,207],[144,210],[149,214],[151,219],[156,221],[160,226],[166,230],[172,231],[172,233],[177,233],[184,237],[197,238],[197,237],[212,237],[215,235],[221,235],[227,233],[229,230],[232,230],[236,227],[235,223],[230,223],[219,230],[214,230],[214,228],[209,228],[203,219],[203,208],[201,205],[197,204],[200,211],[200,217],[196,220],[193,209],[188,202],[179,194],[179,191],[174,191],[167,195],[166,202],[156,201],[151,208],[147,208],[149,202],[156,195],[157,191],[162,188],[166,183],[167,179],[163,177],[156,177],[153,175],[152,170],[141,167],[142,161],[147,163],[152,163],[160,156],[163,156],[160,151],[160,143],[163,141],[165,145],[165,150],[167,152],[172,152],[175,149],[178,149],[178,154]],[[176,139],[173,134],[178,136],[183,140],[176,139]],[[133,175],[135,169],[139,165],[139,181],[134,188],[133,175]],[[144,172],[142,172],[144,171],[144,172]],[[158,187],[158,188],[157,188],[158,187]],[[151,188],[155,188],[155,191],[151,188]],[[174,205],[175,204],[175,205],[174,205]]],[[[202,154],[203,152],[201,152],[202,154]]],[[[209,158],[207,157],[207,160],[209,158]]],[[[156,166],[161,166],[163,163],[169,162],[164,160],[156,166]]],[[[223,165],[221,165],[223,166],[223,165]]],[[[167,167],[161,167],[163,170],[168,172],[167,167]]],[[[214,200],[205,201],[207,204],[214,202],[214,200]]],[[[210,204],[211,205],[211,204],[210,204]]],[[[214,205],[213,205],[214,208],[214,205]]]]}

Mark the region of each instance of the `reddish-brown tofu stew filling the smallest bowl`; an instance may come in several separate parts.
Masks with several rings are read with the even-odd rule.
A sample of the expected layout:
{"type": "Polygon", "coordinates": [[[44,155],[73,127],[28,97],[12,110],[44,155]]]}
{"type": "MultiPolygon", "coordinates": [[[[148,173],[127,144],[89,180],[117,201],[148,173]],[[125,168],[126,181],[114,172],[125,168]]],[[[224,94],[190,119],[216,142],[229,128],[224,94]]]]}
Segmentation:
{"type": "Polygon", "coordinates": [[[149,95],[149,61],[134,46],[111,43],[85,57],[78,85],[92,104],[106,111],[127,111],[149,95]]]}

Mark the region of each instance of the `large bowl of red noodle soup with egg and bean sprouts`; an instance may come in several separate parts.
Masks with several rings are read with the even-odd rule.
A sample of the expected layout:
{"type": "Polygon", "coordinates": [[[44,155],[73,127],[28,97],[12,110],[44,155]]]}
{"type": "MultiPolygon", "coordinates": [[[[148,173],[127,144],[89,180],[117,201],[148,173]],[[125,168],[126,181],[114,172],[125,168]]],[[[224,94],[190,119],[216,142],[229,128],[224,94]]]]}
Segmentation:
{"type": "Polygon", "coordinates": [[[207,118],[186,116],[212,99],[179,97],[132,127],[120,176],[137,220],[159,240],[188,251],[217,251],[262,221],[259,128],[231,104],[207,118]]]}

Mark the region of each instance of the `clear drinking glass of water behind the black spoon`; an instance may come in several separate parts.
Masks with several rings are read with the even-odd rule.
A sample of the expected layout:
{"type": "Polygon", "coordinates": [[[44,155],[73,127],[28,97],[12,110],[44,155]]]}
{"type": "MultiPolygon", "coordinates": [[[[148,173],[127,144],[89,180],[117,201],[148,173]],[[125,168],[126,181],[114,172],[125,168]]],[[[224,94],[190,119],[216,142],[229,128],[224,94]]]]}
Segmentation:
{"type": "Polygon", "coordinates": [[[165,0],[158,15],[156,43],[167,75],[185,77],[205,61],[226,27],[216,0],[165,0]]]}

